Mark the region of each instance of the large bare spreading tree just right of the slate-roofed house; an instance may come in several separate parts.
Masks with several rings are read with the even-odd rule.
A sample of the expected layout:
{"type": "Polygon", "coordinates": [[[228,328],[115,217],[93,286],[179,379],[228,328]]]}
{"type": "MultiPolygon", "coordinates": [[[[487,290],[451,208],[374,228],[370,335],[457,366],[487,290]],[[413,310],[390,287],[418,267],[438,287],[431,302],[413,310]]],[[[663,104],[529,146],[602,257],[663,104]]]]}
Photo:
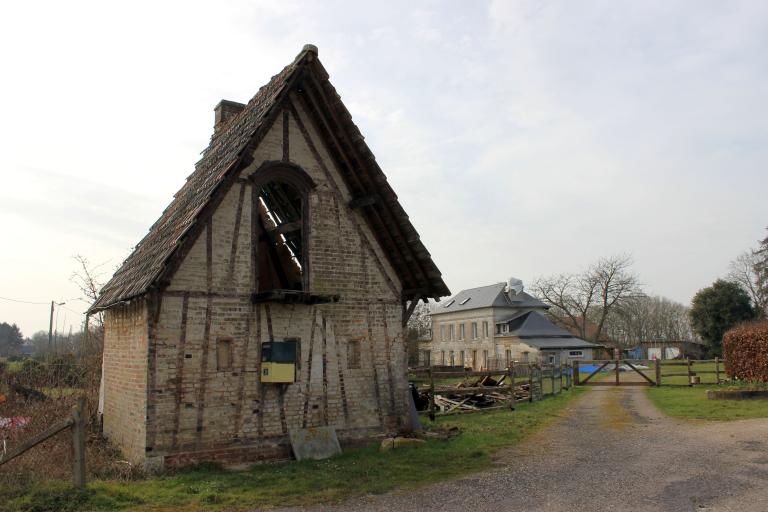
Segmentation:
{"type": "Polygon", "coordinates": [[[598,341],[610,314],[642,296],[631,266],[628,255],[601,258],[579,274],[539,278],[532,288],[560,323],[583,339],[598,341]]]}

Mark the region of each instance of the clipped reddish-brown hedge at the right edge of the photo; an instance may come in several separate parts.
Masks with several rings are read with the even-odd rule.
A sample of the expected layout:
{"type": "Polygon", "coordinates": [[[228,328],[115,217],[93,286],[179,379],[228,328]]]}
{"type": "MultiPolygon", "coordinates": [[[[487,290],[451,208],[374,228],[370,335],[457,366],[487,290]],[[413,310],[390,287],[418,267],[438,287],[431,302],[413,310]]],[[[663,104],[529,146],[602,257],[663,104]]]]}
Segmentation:
{"type": "Polygon", "coordinates": [[[768,382],[768,321],[742,324],[726,332],[723,356],[729,377],[768,382]]]}

